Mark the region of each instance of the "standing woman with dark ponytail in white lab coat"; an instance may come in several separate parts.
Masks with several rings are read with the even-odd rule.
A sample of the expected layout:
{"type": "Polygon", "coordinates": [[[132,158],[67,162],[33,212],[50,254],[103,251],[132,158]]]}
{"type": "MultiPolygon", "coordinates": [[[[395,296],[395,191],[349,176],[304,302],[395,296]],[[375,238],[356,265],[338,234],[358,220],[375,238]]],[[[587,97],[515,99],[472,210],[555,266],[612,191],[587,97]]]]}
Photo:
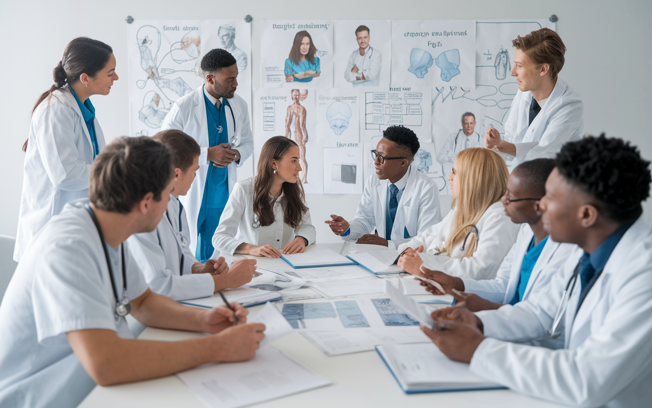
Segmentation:
{"type": "Polygon", "coordinates": [[[104,134],[89,97],[108,95],[118,79],[113,50],[98,40],[74,39],[53,77],[54,85],[34,105],[29,139],[23,144],[27,154],[16,262],[53,215],[67,202],[87,196],[91,164],[104,148],[104,134]]]}

